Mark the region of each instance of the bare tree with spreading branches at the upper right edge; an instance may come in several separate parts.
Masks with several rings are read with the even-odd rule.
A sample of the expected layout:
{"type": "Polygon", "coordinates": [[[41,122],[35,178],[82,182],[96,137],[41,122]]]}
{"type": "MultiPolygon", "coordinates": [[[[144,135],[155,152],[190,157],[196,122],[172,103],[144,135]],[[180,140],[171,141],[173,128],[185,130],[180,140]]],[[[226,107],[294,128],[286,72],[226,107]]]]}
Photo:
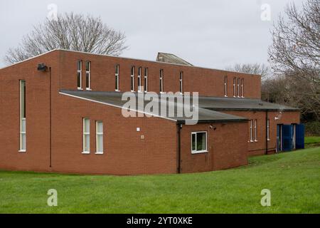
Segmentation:
{"type": "Polygon", "coordinates": [[[292,72],[302,80],[320,84],[320,1],[306,0],[302,11],[294,3],[279,16],[272,31],[270,63],[275,73],[292,72]]]}

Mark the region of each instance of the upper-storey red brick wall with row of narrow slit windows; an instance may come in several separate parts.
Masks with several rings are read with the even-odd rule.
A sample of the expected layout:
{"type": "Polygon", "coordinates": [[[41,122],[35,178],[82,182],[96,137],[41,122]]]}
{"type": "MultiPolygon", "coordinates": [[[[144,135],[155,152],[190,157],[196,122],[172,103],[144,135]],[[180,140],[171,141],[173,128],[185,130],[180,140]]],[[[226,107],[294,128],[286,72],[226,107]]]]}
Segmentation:
{"type": "Polygon", "coordinates": [[[260,98],[261,78],[244,73],[210,70],[190,66],[139,61],[129,58],[98,56],[87,53],[59,51],[63,71],[60,73],[60,88],[77,90],[77,61],[82,60],[82,88],[85,88],[85,61],[91,61],[91,87],[95,91],[114,91],[115,66],[119,64],[119,88],[122,92],[131,90],[131,67],[135,66],[134,87],[137,91],[138,68],[149,68],[149,91],[159,93],[160,69],[164,69],[164,91],[178,92],[180,72],[183,71],[183,91],[199,92],[199,95],[224,97],[224,77],[228,76],[228,96],[233,97],[233,78],[245,78],[245,98],[260,98]]]}

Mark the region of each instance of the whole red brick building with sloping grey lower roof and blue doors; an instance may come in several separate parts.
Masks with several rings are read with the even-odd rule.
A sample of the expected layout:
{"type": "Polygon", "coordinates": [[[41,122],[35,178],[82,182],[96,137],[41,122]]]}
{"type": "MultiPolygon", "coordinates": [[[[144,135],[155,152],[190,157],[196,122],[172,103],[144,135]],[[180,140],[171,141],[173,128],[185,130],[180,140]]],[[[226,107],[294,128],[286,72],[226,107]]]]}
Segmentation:
{"type": "Polygon", "coordinates": [[[159,56],[142,61],[53,50],[0,69],[0,169],[204,172],[246,165],[248,155],[301,147],[299,110],[262,102],[260,90],[260,76],[159,56]],[[198,92],[198,124],[124,118],[127,91],[198,92]]]}

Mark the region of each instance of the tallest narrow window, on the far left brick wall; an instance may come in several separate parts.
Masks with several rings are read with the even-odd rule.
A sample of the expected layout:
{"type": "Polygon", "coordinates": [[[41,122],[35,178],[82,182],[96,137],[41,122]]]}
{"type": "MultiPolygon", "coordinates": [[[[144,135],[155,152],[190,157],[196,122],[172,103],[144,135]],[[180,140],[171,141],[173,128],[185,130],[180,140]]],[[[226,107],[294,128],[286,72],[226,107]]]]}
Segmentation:
{"type": "Polygon", "coordinates": [[[20,152],[26,152],[26,81],[20,81],[20,152]]]}

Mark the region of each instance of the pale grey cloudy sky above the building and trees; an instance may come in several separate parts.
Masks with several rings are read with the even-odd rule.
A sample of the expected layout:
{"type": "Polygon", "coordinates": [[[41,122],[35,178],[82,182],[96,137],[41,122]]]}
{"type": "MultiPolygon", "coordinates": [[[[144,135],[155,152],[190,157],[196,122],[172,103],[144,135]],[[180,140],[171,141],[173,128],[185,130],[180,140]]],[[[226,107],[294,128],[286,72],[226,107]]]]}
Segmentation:
{"type": "MultiPolygon", "coordinates": [[[[302,0],[294,1],[301,6],[302,0]]],[[[267,63],[270,29],[289,0],[10,0],[0,1],[0,67],[9,47],[15,47],[34,24],[58,13],[101,16],[124,31],[129,50],[122,56],[155,60],[158,51],[175,53],[196,66],[225,68],[234,63],[267,63]],[[271,20],[262,21],[262,4],[271,20]]]]}

